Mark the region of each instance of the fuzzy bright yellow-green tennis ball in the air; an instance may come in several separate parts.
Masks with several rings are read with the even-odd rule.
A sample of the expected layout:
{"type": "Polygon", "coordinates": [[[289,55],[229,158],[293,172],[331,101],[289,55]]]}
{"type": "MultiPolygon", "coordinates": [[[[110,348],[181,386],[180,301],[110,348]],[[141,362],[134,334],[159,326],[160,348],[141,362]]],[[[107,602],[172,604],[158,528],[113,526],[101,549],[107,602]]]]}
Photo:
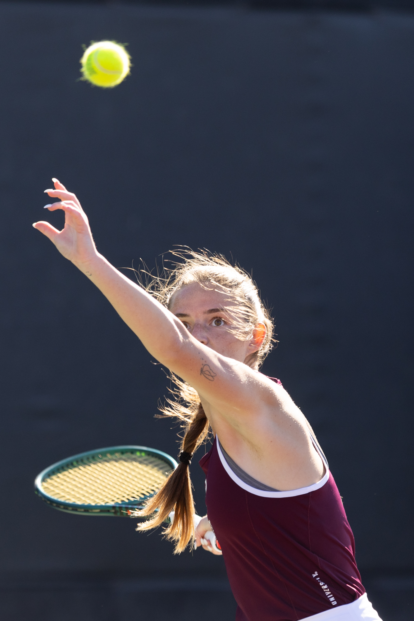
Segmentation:
{"type": "Polygon", "coordinates": [[[102,88],[113,88],[129,74],[129,54],[113,41],[93,43],[80,62],[83,79],[102,88]]]}

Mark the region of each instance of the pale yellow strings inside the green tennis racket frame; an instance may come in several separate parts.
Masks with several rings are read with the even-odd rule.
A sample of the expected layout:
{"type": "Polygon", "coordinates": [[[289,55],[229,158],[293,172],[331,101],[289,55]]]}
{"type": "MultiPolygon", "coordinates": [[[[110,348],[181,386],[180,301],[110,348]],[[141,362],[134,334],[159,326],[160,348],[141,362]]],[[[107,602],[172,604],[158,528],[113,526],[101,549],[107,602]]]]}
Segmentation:
{"type": "Polygon", "coordinates": [[[154,456],[109,455],[68,465],[42,482],[53,498],[73,504],[116,504],[154,494],[171,468],[154,456]]]}

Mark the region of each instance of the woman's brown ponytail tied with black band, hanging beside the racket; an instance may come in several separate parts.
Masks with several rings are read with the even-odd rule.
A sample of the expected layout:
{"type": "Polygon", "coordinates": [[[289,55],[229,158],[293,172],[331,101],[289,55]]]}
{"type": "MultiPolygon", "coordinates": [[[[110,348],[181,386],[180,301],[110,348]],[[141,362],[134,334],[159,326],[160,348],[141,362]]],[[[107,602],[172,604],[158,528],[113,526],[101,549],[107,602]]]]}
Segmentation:
{"type": "Polygon", "coordinates": [[[168,515],[174,511],[172,524],[163,530],[167,539],[176,543],[174,553],[181,553],[188,543],[194,542],[194,501],[191,491],[188,466],[191,457],[208,433],[208,419],[203,406],[198,406],[193,419],[188,422],[186,433],[181,444],[180,463],[168,476],[155,496],[147,501],[143,509],[134,515],[150,519],[138,524],[137,530],[149,530],[160,526],[168,515]],[[184,454],[186,453],[186,455],[184,454]]]}

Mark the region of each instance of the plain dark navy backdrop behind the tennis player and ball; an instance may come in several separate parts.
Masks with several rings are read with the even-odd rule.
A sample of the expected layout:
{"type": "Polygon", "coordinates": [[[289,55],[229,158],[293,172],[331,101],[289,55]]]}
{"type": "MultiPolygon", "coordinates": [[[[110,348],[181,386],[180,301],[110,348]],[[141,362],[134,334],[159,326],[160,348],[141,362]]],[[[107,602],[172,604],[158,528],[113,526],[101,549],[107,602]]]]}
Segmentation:
{"type": "Polygon", "coordinates": [[[220,557],[34,494],[81,451],[178,453],[163,368],[32,229],[52,176],[131,278],[177,244],[252,270],[279,340],[264,372],[328,456],[374,607],[414,619],[414,2],[0,2],[0,33],[1,619],[236,608],[220,557]],[[101,39],[132,57],[114,89],[79,81],[101,39]]]}

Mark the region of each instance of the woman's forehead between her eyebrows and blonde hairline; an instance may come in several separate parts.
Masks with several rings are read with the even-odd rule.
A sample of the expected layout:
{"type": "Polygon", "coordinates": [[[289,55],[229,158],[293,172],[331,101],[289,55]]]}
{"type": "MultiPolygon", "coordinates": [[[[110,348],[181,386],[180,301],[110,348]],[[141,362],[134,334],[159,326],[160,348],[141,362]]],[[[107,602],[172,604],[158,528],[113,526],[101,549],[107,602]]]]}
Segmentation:
{"type": "Polygon", "coordinates": [[[192,314],[225,306],[226,302],[229,302],[229,296],[222,291],[217,291],[213,283],[204,286],[200,283],[190,283],[173,294],[169,308],[174,314],[192,314]]]}

